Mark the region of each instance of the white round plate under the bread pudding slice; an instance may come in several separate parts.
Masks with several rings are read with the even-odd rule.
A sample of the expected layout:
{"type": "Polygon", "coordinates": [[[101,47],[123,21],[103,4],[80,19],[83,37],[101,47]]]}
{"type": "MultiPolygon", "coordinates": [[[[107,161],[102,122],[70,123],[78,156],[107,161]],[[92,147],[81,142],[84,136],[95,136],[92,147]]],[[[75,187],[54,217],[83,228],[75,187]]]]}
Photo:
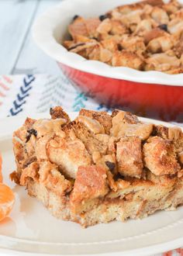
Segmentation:
{"type": "MultiPolygon", "coordinates": [[[[76,113],[71,113],[71,118],[74,115],[76,113]]],[[[40,116],[47,117],[43,114],[40,116]]],[[[12,213],[0,223],[0,253],[142,256],[183,245],[183,207],[174,212],[161,211],[143,220],[128,220],[126,223],[114,221],[87,229],[51,216],[40,202],[27,195],[23,187],[9,180],[9,174],[16,168],[12,153],[12,132],[22,125],[24,119],[9,117],[0,120],[4,181],[16,193],[12,213]]]]}

